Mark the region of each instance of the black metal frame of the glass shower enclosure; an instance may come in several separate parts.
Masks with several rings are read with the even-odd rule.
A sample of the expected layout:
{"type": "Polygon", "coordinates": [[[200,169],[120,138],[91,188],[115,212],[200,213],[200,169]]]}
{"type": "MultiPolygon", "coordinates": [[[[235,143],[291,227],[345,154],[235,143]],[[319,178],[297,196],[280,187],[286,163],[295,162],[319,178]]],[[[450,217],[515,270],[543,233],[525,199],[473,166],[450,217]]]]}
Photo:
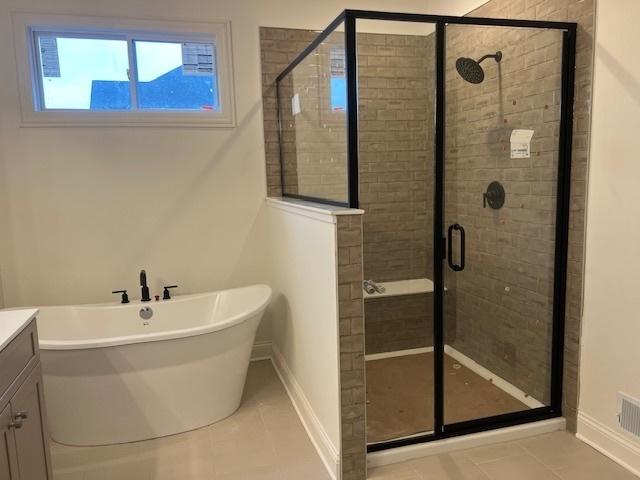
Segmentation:
{"type": "MultiPolygon", "coordinates": [[[[359,207],[358,200],[358,73],[356,20],[386,20],[419,22],[436,28],[436,105],[435,105],[435,185],[434,185],[434,431],[370,444],[368,452],[441,440],[458,435],[536,422],[562,415],[562,382],[564,353],[564,323],[566,304],[567,252],[569,236],[569,203],[571,184],[571,146],[573,141],[573,103],[577,24],[538,20],[517,20],[482,17],[453,17],[412,13],[345,10],[296,57],[277,77],[279,83],[340,25],[344,24],[347,77],[347,153],[349,200],[342,205],[359,207]],[[555,260],[553,285],[553,328],[551,353],[550,405],[531,410],[479,418],[459,423],[444,422],[444,262],[446,235],[444,231],[444,166],[445,166],[445,60],[447,25],[519,27],[559,30],[563,33],[561,117],[558,143],[557,204],[555,220],[555,260]]],[[[282,159],[281,159],[282,160],[282,159]]],[[[281,167],[284,165],[281,164],[281,167]]],[[[282,169],[284,172],[284,169],[282,169]]],[[[284,184],[283,184],[284,185],[284,184]]],[[[295,195],[287,195],[292,196],[295,195]]],[[[297,197],[301,198],[301,197],[297,197]]],[[[320,203],[336,204],[321,198],[303,197],[320,203]]]]}

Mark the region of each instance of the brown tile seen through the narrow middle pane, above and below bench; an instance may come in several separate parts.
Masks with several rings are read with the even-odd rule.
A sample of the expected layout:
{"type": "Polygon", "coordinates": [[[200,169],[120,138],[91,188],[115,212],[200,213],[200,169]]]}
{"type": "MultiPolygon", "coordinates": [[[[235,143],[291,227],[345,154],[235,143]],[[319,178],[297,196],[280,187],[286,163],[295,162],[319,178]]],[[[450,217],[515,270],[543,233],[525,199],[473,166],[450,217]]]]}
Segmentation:
{"type": "MultiPolygon", "coordinates": [[[[364,278],[433,279],[433,35],[358,34],[364,278]]],[[[366,352],[433,345],[433,295],[365,300],[366,352]]]]}

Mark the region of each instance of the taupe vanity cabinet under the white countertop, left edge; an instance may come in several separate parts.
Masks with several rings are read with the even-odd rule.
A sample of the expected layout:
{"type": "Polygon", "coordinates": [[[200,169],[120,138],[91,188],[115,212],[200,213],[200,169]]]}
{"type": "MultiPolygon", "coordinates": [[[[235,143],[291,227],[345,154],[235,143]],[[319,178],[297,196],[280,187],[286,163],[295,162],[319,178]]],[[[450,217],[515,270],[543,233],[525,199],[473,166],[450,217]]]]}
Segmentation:
{"type": "Polygon", "coordinates": [[[0,480],[53,479],[35,319],[0,350],[0,435],[0,480]]]}

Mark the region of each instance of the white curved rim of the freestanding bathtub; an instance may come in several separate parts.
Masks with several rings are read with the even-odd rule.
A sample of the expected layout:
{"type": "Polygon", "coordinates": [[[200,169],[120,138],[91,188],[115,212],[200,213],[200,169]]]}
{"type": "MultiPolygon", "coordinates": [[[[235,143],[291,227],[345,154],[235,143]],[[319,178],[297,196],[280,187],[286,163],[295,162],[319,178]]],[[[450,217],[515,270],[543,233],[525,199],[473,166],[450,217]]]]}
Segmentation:
{"type": "MultiPolygon", "coordinates": [[[[169,330],[165,332],[155,332],[155,333],[145,333],[145,334],[137,334],[137,335],[128,335],[122,337],[105,337],[105,338],[89,338],[84,340],[47,340],[42,337],[38,338],[38,344],[40,350],[44,351],[65,351],[65,350],[87,350],[87,349],[97,349],[97,348],[107,348],[107,347],[117,347],[122,345],[132,345],[138,343],[150,343],[150,342],[159,342],[166,340],[175,340],[179,338],[188,338],[195,337],[198,335],[207,335],[210,333],[219,332],[222,330],[226,330],[232,328],[236,325],[243,323],[244,321],[256,316],[261,315],[269,305],[271,297],[273,295],[273,291],[271,287],[266,284],[255,284],[249,285],[246,287],[238,287],[238,288],[228,288],[225,290],[215,290],[211,292],[204,293],[194,293],[189,295],[176,295],[171,300],[165,300],[165,302],[175,302],[179,303],[182,301],[187,301],[190,299],[203,298],[213,294],[224,294],[225,292],[233,292],[238,290],[257,290],[258,294],[256,295],[257,299],[260,300],[256,302],[255,305],[252,305],[250,309],[242,311],[237,315],[233,315],[231,317],[225,318],[224,320],[218,323],[209,323],[206,325],[201,325],[197,327],[184,328],[178,330],[169,330]]],[[[140,302],[133,301],[126,305],[126,307],[134,307],[134,306],[152,306],[155,305],[156,302],[140,302]]],[[[96,304],[80,304],[80,305],[56,305],[51,307],[39,307],[41,315],[43,310],[46,312],[46,308],[122,308],[122,304],[120,303],[96,303],[96,304]]],[[[125,308],[126,308],[125,307],[125,308]]]]}

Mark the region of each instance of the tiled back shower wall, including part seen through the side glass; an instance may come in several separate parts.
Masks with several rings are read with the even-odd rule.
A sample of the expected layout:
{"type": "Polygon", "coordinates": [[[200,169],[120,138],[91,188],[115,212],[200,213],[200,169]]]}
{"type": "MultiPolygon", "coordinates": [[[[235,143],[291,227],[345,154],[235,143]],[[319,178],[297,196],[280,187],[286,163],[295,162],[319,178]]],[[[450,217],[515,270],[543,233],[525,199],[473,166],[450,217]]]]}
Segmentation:
{"type": "MultiPolygon", "coordinates": [[[[316,33],[262,28],[260,34],[268,190],[280,195],[273,83],[316,33]]],[[[357,42],[364,275],[378,282],[432,279],[434,37],[358,34],[357,42]]],[[[342,46],[341,33],[330,35],[281,82],[288,193],[345,198],[346,119],[329,108],[329,55],[342,46]],[[293,116],[295,92],[302,112],[293,116]]],[[[432,294],[367,301],[367,352],[432,345],[432,302],[432,294]]]]}

